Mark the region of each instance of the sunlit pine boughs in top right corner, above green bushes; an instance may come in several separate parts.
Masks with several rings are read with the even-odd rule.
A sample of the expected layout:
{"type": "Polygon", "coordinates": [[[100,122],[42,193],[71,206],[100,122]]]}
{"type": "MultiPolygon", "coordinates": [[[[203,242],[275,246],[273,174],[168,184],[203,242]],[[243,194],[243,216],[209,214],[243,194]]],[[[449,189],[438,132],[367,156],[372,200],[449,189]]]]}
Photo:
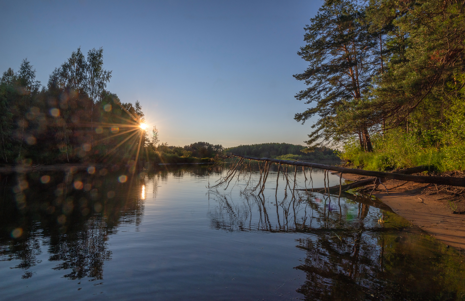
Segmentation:
{"type": "MultiPolygon", "coordinates": [[[[465,71],[463,1],[373,0],[371,10],[372,20],[392,25],[388,70],[377,80],[376,97],[369,104],[373,116],[384,118],[389,128],[408,128],[411,114],[426,102],[438,107],[432,119],[441,118],[450,94],[460,90],[455,87],[458,75],[465,71]]],[[[422,111],[420,117],[425,116],[422,111]]],[[[376,122],[369,116],[367,120],[376,122]]]]}

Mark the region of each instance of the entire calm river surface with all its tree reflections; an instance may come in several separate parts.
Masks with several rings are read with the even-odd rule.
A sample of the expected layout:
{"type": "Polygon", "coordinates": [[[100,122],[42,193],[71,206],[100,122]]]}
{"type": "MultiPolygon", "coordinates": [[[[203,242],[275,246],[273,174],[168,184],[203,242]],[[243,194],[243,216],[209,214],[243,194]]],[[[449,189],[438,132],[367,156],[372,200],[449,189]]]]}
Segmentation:
{"type": "Polygon", "coordinates": [[[382,204],[206,188],[225,172],[1,174],[0,299],[465,300],[463,257],[382,204]]]}

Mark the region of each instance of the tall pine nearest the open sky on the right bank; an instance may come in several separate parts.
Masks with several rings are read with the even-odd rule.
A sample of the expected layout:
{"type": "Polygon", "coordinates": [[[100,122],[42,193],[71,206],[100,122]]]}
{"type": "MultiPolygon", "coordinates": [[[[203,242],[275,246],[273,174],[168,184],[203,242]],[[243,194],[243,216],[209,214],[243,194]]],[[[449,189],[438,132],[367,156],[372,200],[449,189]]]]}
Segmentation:
{"type": "Polygon", "coordinates": [[[305,123],[318,114],[306,143],[310,146],[337,142],[358,134],[362,149],[372,150],[368,128],[361,120],[344,118],[346,110],[357,111],[366,102],[371,78],[376,72],[376,41],[368,30],[364,7],[355,0],[326,0],[305,27],[299,55],[309,62],[304,73],[294,75],[310,87],[295,97],[316,106],[295,115],[305,123]]]}

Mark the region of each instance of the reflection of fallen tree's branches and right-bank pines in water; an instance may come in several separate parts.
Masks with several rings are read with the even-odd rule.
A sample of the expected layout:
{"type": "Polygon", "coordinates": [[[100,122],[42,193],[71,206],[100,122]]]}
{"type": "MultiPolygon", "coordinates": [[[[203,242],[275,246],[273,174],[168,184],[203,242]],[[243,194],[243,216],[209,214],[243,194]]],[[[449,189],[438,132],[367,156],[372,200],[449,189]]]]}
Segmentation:
{"type": "Polygon", "coordinates": [[[381,202],[299,193],[296,198],[209,192],[212,228],[307,233],[295,269],[306,273],[305,300],[461,300],[462,257],[412,227],[381,202]],[[270,199],[274,202],[270,202],[270,199]],[[272,207],[274,211],[270,210],[272,207]]]}

